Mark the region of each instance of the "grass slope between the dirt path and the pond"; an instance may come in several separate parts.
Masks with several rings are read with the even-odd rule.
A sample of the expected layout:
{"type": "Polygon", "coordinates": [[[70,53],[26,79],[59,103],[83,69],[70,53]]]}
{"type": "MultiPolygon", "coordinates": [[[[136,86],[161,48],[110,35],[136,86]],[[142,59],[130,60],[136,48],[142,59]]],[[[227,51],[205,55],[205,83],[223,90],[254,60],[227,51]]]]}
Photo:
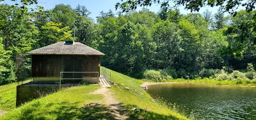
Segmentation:
{"type": "Polygon", "coordinates": [[[111,80],[119,84],[118,86],[113,86],[111,91],[118,101],[124,103],[124,107],[129,110],[131,119],[188,119],[177,111],[152,102],[150,95],[140,88],[140,84],[145,81],[133,79],[113,70],[110,71],[111,80]],[[125,89],[125,87],[128,87],[129,90],[125,89]],[[132,110],[134,108],[136,110],[132,110]]]}

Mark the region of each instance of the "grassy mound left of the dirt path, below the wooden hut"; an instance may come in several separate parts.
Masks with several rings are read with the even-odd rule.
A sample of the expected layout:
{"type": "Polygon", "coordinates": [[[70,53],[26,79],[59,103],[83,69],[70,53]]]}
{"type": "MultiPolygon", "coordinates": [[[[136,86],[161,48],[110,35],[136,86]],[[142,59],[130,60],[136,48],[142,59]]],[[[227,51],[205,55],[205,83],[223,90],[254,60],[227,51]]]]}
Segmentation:
{"type": "Polygon", "coordinates": [[[102,119],[111,118],[101,105],[102,95],[89,94],[99,85],[77,86],[60,90],[8,112],[1,119],[102,119]],[[86,107],[86,104],[94,105],[86,107]]]}

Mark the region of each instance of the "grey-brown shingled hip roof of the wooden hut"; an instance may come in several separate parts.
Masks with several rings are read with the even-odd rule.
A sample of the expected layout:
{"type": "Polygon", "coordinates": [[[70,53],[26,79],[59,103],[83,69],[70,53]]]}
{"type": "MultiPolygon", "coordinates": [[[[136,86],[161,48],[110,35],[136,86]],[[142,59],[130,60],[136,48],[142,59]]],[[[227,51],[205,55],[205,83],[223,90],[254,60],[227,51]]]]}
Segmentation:
{"type": "Polygon", "coordinates": [[[65,42],[50,44],[28,52],[29,55],[97,55],[104,56],[104,53],[97,51],[79,42],[65,42]]]}

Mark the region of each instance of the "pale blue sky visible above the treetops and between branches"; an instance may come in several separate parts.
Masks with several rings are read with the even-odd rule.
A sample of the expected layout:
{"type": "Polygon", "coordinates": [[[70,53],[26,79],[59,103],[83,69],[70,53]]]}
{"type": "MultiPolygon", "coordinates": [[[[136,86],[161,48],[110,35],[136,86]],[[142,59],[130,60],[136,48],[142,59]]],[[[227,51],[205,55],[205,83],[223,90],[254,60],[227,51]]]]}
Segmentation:
{"type": "MultiPolygon", "coordinates": [[[[90,15],[91,18],[93,18],[94,20],[96,20],[96,17],[99,16],[100,11],[104,11],[107,12],[110,10],[112,10],[114,13],[117,13],[119,10],[115,10],[115,4],[120,2],[121,0],[38,0],[38,6],[43,6],[45,8],[45,10],[51,10],[52,8],[54,8],[54,6],[56,4],[70,4],[70,6],[72,8],[76,8],[76,6],[78,4],[86,6],[86,8],[92,12],[92,14],[90,15]]],[[[6,4],[15,4],[15,2],[10,1],[10,0],[4,0],[3,2],[0,3],[6,3],[6,4]]],[[[157,4],[153,4],[150,7],[147,7],[150,11],[154,11],[155,13],[157,13],[159,11],[159,5],[157,4]]],[[[180,6],[180,13],[182,14],[187,14],[190,13],[190,11],[188,10],[184,10],[184,7],[180,6]]],[[[209,10],[212,11],[212,15],[214,13],[217,12],[218,8],[214,7],[204,7],[201,8],[199,13],[203,13],[205,10],[209,10]]],[[[139,8],[138,10],[141,10],[141,8],[139,8]]],[[[137,10],[137,11],[138,11],[137,10]]]]}

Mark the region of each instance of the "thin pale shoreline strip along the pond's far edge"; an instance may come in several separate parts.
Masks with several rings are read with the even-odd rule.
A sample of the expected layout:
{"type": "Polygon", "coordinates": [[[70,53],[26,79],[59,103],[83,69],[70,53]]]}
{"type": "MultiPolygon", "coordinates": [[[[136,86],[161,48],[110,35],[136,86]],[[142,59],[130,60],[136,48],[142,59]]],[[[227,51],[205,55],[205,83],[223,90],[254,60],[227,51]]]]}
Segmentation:
{"type": "MultiPolygon", "coordinates": [[[[140,84],[141,88],[147,88],[147,86],[150,85],[155,85],[155,84],[173,84],[173,83],[184,83],[184,82],[159,82],[159,83],[154,83],[154,82],[145,82],[140,84]]],[[[196,83],[196,84],[202,84],[202,83],[198,83],[198,82],[193,82],[193,81],[189,81],[186,83],[196,83]]],[[[204,83],[204,84],[214,84],[214,83],[204,83]]],[[[246,88],[256,88],[256,86],[246,86],[246,85],[242,85],[242,84],[236,84],[236,85],[230,85],[230,84],[214,84],[216,86],[237,86],[237,87],[246,87],[246,88]]]]}

